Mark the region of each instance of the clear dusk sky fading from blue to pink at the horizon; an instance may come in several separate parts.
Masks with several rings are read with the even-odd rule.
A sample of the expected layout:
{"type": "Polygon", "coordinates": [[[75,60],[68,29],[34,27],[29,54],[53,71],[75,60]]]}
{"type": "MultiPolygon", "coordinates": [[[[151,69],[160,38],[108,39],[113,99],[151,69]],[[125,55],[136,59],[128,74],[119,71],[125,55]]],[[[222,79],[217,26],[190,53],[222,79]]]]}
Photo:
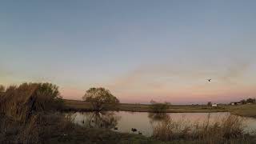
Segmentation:
{"type": "Polygon", "coordinates": [[[25,0],[0,5],[0,84],[82,99],[191,104],[256,97],[256,1],[25,0]],[[211,82],[207,82],[211,78],[211,82]]]}

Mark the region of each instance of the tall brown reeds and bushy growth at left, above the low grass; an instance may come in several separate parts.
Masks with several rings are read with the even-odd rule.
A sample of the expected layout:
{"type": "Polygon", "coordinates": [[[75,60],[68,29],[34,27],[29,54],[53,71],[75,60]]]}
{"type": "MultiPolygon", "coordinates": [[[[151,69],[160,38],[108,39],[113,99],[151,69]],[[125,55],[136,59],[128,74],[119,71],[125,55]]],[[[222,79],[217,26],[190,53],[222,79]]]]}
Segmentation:
{"type": "Polygon", "coordinates": [[[23,83],[9,86],[0,95],[0,113],[26,122],[34,113],[58,110],[62,98],[58,86],[51,83],[23,83]]]}

